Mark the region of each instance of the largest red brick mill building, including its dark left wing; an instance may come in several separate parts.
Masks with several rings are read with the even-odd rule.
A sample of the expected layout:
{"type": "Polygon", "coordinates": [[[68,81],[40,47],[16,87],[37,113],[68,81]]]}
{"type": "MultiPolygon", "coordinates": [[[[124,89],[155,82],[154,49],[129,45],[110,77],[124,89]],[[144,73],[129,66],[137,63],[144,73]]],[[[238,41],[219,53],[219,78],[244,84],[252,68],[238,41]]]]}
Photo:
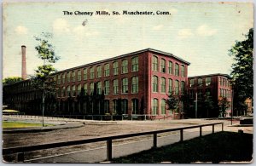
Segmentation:
{"type": "MultiPolygon", "coordinates": [[[[165,99],[168,93],[186,92],[188,66],[173,54],[143,49],[55,72],[56,94],[49,98],[46,112],[179,118],[183,103],[177,115],[166,110],[165,99]]],[[[39,114],[42,95],[30,86],[30,80],[4,86],[4,104],[39,114]]]]}

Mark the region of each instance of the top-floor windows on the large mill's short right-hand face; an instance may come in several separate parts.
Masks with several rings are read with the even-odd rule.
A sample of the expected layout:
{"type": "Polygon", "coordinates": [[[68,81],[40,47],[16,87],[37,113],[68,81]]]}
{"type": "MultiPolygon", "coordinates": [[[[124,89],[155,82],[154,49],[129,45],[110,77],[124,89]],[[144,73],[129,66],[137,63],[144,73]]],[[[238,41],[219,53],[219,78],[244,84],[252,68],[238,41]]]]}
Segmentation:
{"type": "MultiPolygon", "coordinates": [[[[172,61],[168,61],[168,67],[166,67],[166,60],[161,58],[160,59],[160,69],[159,69],[159,62],[158,62],[158,57],[153,55],[153,60],[152,60],[152,71],[154,72],[163,72],[163,73],[169,73],[169,74],[173,74],[173,63],[172,61]],[[168,68],[168,71],[166,70],[168,68]]],[[[185,77],[185,66],[181,65],[179,66],[179,64],[175,63],[174,66],[174,75],[175,76],[181,76],[181,77],[185,77]],[[181,69],[179,69],[179,67],[181,69]]]]}

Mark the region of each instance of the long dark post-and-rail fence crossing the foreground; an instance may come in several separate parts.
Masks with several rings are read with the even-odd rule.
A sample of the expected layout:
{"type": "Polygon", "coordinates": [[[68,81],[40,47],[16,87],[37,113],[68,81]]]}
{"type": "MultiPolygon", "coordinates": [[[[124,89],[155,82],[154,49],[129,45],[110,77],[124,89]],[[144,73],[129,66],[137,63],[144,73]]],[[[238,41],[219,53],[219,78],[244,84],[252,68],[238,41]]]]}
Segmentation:
{"type": "Polygon", "coordinates": [[[3,148],[3,155],[9,154],[17,154],[17,161],[24,162],[24,152],[31,152],[31,151],[38,151],[43,149],[50,149],[56,147],[63,147],[63,146],[75,146],[87,143],[94,143],[99,141],[107,141],[107,160],[112,160],[112,140],[119,140],[129,137],[135,136],[142,136],[142,135],[153,135],[153,148],[157,147],[157,134],[166,133],[171,131],[180,131],[180,141],[183,141],[183,130],[184,129],[195,129],[200,128],[200,136],[202,135],[202,127],[205,126],[212,126],[212,133],[214,133],[214,126],[217,124],[222,125],[222,131],[224,131],[224,123],[207,123],[183,128],[176,128],[176,129],[163,129],[163,130],[156,130],[156,131],[148,131],[142,133],[134,133],[134,134],[127,134],[127,135],[114,135],[114,136],[107,136],[101,138],[93,138],[87,140],[72,140],[72,141],[65,141],[65,142],[57,142],[57,143],[50,143],[50,144],[43,144],[43,145],[36,145],[36,146],[17,146],[17,147],[10,147],[10,148],[3,148]]]}

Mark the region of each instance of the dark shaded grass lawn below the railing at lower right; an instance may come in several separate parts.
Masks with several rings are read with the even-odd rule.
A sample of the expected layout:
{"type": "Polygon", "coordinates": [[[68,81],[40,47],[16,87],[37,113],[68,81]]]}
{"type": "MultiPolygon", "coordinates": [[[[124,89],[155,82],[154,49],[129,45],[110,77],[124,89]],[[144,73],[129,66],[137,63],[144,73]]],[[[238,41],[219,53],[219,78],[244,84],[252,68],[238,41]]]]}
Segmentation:
{"type": "Polygon", "coordinates": [[[113,163],[219,163],[252,159],[253,135],[218,132],[201,138],[184,140],[171,146],[114,158],[113,163]]]}

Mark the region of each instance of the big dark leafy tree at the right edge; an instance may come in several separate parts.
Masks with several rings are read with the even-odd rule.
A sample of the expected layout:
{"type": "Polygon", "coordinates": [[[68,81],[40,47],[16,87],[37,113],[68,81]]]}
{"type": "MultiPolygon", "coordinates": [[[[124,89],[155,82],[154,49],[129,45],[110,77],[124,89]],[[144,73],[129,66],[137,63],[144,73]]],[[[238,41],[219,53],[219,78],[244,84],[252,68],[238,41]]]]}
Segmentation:
{"type": "Polygon", "coordinates": [[[244,101],[253,100],[253,28],[245,35],[245,40],[236,41],[230,49],[232,64],[232,89],[234,91],[233,107],[239,113],[245,109],[244,101]]]}

